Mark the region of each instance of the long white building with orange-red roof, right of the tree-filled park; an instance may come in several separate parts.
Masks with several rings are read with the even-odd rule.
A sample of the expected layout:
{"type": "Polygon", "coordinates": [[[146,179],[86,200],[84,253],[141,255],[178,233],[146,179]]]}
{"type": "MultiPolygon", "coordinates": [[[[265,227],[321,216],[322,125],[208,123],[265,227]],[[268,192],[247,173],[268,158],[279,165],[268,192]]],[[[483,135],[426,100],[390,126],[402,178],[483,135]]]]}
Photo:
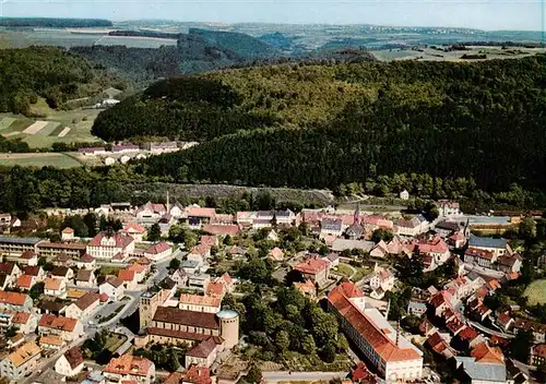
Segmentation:
{"type": "Polygon", "coordinates": [[[388,383],[422,377],[423,352],[400,335],[376,308],[368,305],[363,291],[353,283],[332,289],[328,308],[340,320],[342,331],[388,383]]]}

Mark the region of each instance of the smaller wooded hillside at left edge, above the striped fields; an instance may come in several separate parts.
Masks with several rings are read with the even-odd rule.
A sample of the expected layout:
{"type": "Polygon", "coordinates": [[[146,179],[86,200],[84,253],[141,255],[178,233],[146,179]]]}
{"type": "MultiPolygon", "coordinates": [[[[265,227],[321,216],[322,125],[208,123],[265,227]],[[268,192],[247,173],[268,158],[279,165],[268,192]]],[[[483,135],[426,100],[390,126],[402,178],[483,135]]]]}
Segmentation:
{"type": "Polygon", "coordinates": [[[100,93],[111,79],[84,58],[57,48],[0,50],[0,112],[28,115],[44,97],[51,108],[100,93]]]}

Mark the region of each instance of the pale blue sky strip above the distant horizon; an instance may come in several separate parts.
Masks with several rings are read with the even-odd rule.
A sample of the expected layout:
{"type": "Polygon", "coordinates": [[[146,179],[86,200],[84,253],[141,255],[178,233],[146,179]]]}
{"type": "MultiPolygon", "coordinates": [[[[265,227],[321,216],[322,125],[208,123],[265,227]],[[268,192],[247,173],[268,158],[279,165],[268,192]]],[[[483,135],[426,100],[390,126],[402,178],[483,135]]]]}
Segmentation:
{"type": "MultiPolygon", "coordinates": [[[[0,0],[0,15],[541,31],[546,0],[0,0]]],[[[545,7],[546,8],[546,7],[545,7]]]]}

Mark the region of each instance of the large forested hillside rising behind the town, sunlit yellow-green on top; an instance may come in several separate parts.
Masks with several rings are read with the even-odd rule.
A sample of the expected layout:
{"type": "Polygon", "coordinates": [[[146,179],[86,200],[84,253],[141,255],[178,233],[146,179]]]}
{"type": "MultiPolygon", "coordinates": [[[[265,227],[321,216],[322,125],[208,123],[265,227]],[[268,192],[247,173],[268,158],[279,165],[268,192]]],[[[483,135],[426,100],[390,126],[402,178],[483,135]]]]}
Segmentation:
{"type": "MultiPolygon", "coordinates": [[[[545,61],[537,56],[473,63],[276,65],[195,77],[221,81],[234,101],[218,106],[193,95],[191,103],[198,97],[227,110],[270,113],[275,123],[230,135],[216,132],[219,137],[207,143],[144,161],[140,171],[179,181],[306,188],[417,172],[473,178],[485,190],[506,190],[512,182],[544,189],[545,61]]],[[[157,113],[188,97],[162,88],[155,96],[169,101],[150,95],[136,103],[141,113],[157,113]]],[[[136,105],[123,107],[132,113],[136,105]]],[[[177,111],[166,110],[175,121],[177,111]]],[[[191,128],[178,120],[181,136],[214,136],[206,129],[206,109],[193,117],[191,128]]],[[[97,123],[105,123],[100,118],[97,123]]],[[[224,133],[234,131],[235,125],[223,124],[224,133]]]]}

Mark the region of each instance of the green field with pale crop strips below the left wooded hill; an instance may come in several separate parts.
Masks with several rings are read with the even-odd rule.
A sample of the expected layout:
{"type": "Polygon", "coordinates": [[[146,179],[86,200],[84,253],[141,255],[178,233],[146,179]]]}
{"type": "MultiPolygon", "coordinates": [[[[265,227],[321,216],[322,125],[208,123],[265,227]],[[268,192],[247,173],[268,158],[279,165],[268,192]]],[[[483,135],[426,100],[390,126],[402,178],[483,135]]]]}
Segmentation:
{"type": "Polygon", "coordinates": [[[47,116],[29,119],[20,115],[0,113],[0,134],[9,139],[21,139],[31,148],[50,147],[54,143],[93,143],[100,141],[91,134],[98,109],[52,110],[33,106],[34,112],[47,116]]]}

